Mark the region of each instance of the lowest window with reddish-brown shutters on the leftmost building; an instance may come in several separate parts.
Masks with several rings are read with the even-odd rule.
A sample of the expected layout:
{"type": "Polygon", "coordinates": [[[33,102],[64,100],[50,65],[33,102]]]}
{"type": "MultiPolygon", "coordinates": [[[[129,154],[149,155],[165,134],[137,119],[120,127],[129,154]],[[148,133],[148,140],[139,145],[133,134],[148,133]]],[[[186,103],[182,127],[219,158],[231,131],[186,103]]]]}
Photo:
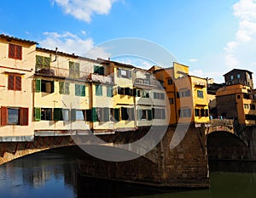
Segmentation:
{"type": "Polygon", "coordinates": [[[28,126],[29,109],[24,107],[1,107],[1,125],[28,126]]]}

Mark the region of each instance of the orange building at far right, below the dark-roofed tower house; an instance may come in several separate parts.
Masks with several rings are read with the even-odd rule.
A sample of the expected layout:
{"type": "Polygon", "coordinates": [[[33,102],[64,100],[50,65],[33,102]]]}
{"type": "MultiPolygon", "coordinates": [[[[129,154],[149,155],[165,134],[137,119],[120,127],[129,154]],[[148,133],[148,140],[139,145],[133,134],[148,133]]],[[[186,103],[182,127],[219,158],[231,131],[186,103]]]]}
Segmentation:
{"type": "Polygon", "coordinates": [[[216,92],[218,116],[241,125],[256,124],[256,95],[248,85],[234,84],[216,92]]]}

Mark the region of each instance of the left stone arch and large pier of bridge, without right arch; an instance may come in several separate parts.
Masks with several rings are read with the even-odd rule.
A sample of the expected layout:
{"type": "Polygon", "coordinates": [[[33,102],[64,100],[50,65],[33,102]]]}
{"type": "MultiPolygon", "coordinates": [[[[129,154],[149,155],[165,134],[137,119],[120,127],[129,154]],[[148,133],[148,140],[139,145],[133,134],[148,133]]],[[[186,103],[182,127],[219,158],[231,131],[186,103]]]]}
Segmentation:
{"type": "MultiPolygon", "coordinates": [[[[87,144],[87,149],[108,150],[114,144],[129,144],[146,137],[148,130],[142,129],[133,132],[116,132],[114,134],[97,135],[106,144],[87,144]]],[[[79,173],[87,177],[107,178],[135,184],[148,184],[162,187],[177,188],[208,188],[209,174],[207,166],[206,136],[203,127],[190,124],[185,127],[169,126],[166,131],[160,127],[154,128],[154,133],[149,140],[154,140],[154,135],[163,133],[164,137],[156,144],[154,149],[147,154],[141,149],[135,150],[138,156],[130,161],[103,161],[93,156],[83,154],[79,156],[79,173]]],[[[0,163],[14,160],[41,150],[55,149],[57,147],[72,146],[79,143],[90,142],[90,135],[70,136],[35,136],[33,142],[5,142],[0,143],[0,163]]],[[[70,147],[72,148],[72,147],[70,147]]],[[[131,150],[126,150],[127,155],[134,155],[131,150]],[[130,152],[130,153],[129,153],[130,152]]],[[[134,151],[134,150],[133,150],[134,151]]],[[[114,148],[110,155],[118,156],[119,148],[114,148]]],[[[120,156],[118,156],[120,157],[120,156]]],[[[122,159],[122,158],[120,158],[122,159]]]]}

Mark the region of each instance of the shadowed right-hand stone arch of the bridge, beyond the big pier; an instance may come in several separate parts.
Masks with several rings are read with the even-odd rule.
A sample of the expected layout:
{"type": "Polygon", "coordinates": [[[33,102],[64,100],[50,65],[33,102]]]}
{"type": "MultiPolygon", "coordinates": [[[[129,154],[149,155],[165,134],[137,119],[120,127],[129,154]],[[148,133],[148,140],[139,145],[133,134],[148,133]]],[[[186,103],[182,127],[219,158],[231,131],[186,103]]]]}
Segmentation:
{"type": "Polygon", "coordinates": [[[206,130],[207,155],[217,160],[256,160],[256,126],[212,119],[206,130]]]}

